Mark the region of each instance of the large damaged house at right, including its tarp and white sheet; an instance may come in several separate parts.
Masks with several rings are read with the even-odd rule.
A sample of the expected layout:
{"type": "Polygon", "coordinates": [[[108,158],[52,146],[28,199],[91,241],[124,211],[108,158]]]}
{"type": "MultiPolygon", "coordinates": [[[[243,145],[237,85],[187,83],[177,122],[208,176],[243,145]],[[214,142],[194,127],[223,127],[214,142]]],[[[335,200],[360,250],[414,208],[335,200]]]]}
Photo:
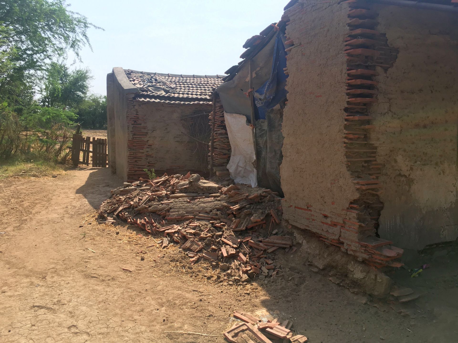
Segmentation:
{"type": "Polygon", "coordinates": [[[213,171],[373,267],[457,239],[454,2],[290,1],[217,88],[213,171]]]}

